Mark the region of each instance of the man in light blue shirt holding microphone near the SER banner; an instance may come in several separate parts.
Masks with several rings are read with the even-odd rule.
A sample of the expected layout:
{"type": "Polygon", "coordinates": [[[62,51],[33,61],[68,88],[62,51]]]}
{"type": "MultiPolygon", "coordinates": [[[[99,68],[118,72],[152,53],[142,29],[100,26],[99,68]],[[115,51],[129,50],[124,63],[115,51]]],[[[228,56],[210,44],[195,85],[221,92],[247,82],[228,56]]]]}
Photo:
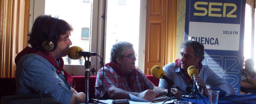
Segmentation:
{"type": "MultiPolygon", "coordinates": [[[[188,67],[196,66],[198,76],[194,76],[203,95],[208,95],[208,90],[219,90],[220,96],[234,95],[235,91],[230,84],[216,75],[208,65],[201,62],[204,59],[204,46],[196,41],[186,41],[181,45],[181,58],[163,67],[167,77],[173,80],[183,91],[190,91],[193,87],[193,80],[188,75],[188,67]],[[209,85],[210,88],[206,88],[209,85]],[[189,88],[190,87],[190,88],[189,88]],[[186,90],[187,89],[187,90],[186,90]]],[[[160,79],[159,87],[167,88],[168,83],[160,79]]]]}

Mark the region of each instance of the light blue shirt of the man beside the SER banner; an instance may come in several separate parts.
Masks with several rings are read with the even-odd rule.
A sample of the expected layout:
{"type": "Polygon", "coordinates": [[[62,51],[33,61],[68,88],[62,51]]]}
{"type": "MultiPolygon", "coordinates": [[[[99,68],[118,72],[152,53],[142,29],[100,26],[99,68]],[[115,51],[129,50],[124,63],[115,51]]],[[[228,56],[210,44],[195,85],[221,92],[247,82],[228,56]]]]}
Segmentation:
{"type": "MultiPolygon", "coordinates": [[[[187,87],[191,87],[191,84],[187,80],[186,76],[182,73],[181,69],[173,63],[169,63],[163,67],[166,76],[170,78],[181,90],[186,91],[187,87]]],[[[226,91],[226,95],[235,95],[234,88],[226,82],[226,80],[216,75],[208,65],[202,65],[202,69],[198,74],[203,82],[210,87],[218,87],[226,91]]],[[[164,79],[160,79],[159,87],[167,88],[168,83],[164,79]]],[[[173,87],[174,88],[174,87],[173,87]]]]}

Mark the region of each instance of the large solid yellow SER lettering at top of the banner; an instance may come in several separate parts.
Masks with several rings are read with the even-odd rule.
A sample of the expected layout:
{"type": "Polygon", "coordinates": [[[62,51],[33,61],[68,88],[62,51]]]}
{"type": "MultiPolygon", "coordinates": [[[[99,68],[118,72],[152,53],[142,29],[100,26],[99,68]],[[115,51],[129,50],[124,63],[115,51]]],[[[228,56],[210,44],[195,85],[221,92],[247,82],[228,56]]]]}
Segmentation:
{"type": "Polygon", "coordinates": [[[194,3],[194,8],[196,10],[202,11],[202,13],[194,13],[194,16],[206,16],[208,13],[208,16],[210,17],[231,17],[231,18],[236,18],[236,15],[234,15],[233,13],[236,11],[237,7],[235,4],[232,3],[215,3],[215,2],[195,2],[194,3]],[[207,8],[205,8],[204,5],[208,5],[208,11],[207,8]],[[212,7],[214,6],[214,7],[212,7]],[[223,10],[221,10],[222,8],[216,8],[216,6],[223,6],[223,10]],[[233,8],[231,11],[226,11],[227,7],[231,7],[233,8]],[[213,14],[212,11],[216,12],[222,12],[222,14],[213,14]],[[226,12],[228,12],[226,14],[226,12]]]}

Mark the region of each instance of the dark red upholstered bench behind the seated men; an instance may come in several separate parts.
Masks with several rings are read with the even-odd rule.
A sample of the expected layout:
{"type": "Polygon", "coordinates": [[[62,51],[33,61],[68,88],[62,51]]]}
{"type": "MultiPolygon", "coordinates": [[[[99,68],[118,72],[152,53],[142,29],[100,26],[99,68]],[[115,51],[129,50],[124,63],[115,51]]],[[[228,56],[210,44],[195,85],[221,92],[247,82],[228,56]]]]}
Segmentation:
{"type": "MultiPolygon", "coordinates": [[[[153,75],[147,75],[147,78],[155,85],[158,86],[159,79],[155,78],[153,75]]],[[[84,76],[73,76],[75,81],[75,90],[77,92],[85,92],[85,79],[84,76]]],[[[95,82],[96,76],[90,76],[89,79],[89,102],[92,98],[95,99],[95,82]]],[[[15,78],[0,78],[0,97],[7,95],[15,95],[16,93],[16,81],[15,78]]]]}

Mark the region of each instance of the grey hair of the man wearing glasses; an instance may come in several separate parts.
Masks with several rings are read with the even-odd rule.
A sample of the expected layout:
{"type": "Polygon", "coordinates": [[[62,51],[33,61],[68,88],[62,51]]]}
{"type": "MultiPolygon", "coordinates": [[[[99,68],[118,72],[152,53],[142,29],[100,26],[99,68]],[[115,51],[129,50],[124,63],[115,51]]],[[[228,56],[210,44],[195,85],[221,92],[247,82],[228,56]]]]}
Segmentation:
{"type": "MultiPolygon", "coordinates": [[[[122,56],[125,50],[132,48],[133,45],[129,42],[118,42],[113,45],[110,53],[110,60],[117,63],[116,58],[122,56]]],[[[123,57],[122,57],[123,58],[123,57]]]]}

